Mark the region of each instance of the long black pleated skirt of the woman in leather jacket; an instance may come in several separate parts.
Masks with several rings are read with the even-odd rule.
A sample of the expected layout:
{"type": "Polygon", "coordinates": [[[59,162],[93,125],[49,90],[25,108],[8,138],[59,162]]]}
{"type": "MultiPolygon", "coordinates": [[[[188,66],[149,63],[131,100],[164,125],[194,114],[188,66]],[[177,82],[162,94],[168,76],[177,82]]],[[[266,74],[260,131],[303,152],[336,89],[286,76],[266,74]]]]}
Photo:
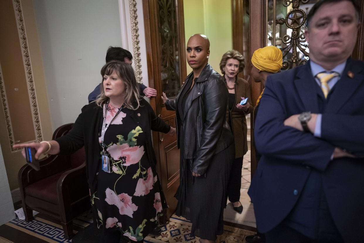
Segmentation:
{"type": "Polygon", "coordinates": [[[183,159],[181,148],[180,184],[176,215],[192,222],[191,235],[216,240],[223,233],[223,210],[226,207],[227,183],[235,158],[234,143],[211,157],[205,175],[192,176],[193,161],[183,159]]]}

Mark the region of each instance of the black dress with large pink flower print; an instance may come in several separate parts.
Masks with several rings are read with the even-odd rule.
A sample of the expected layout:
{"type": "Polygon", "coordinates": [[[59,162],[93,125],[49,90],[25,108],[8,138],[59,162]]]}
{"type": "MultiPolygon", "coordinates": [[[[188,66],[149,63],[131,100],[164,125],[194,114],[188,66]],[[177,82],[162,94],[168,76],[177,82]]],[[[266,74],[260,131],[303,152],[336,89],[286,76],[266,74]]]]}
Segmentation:
{"type": "MultiPolygon", "coordinates": [[[[108,105],[106,124],[117,112],[118,108],[108,105]]],[[[150,131],[143,131],[128,112],[122,108],[105,132],[110,173],[102,170],[100,154],[97,191],[91,196],[91,204],[98,213],[99,228],[120,230],[127,240],[140,241],[157,226],[162,215],[161,187],[145,149],[145,133],[150,131]]],[[[99,142],[101,146],[101,137],[99,142]]]]}

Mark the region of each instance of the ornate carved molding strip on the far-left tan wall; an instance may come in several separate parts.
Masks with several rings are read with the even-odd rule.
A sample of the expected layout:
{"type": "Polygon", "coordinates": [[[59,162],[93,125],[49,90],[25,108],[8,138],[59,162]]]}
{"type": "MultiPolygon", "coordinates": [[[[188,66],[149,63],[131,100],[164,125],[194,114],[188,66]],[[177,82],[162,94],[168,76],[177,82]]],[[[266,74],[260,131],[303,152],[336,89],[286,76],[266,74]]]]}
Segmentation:
{"type": "MultiPolygon", "coordinates": [[[[36,136],[37,141],[42,141],[43,136],[42,136],[42,130],[41,130],[41,125],[40,125],[40,119],[39,119],[38,102],[37,102],[37,96],[36,96],[36,92],[35,92],[33,70],[32,70],[29,50],[28,50],[27,33],[25,31],[24,16],[23,16],[23,10],[21,8],[20,0],[13,0],[13,6],[14,6],[16,23],[17,23],[18,33],[19,33],[21,54],[23,56],[25,77],[27,79],[27,87],[28,87],[30,105],[31,105],[31,110],[32,110],[35,136],[36,136]]],[[[8,126],[8,124],[7,124],[7,126],[8,126]]],[[[8,129],[8,132],[9,132],[9,129],[8,129]]],[[[13,137],[12,134],[11,134],[11,137],[13,137]]],[[[16,149],[12,148],[14,141],[11,140],[11,137],[9,136],[11,150],[15,151],[16,149]]]]}

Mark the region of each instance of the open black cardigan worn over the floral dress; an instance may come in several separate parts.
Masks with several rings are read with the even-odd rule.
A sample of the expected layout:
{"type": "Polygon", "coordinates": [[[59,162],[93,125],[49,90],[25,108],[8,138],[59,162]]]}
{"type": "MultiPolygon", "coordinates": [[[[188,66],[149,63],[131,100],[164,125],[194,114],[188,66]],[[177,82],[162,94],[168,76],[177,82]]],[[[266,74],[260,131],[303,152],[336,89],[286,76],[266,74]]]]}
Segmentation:
{"type": "MultiPolygon", "coordinates": [[[[146,152],[152,171],[156,175],[157,160],[155,158],[151,133],[147,131],[153,130],[168,133],[170,126],[155,115],[152,107],[145,99],[141,99],[140,104],[141,107],[137,110],[131,110],[130,116],[145,131],[147,136],[146,152]]],[[[56,141],[59,143],[60,154],[72,154],[82,148],[82,146],[85,146],[87,180],[90,194],[92,195],[96,190],[96,173],[98,166],[100,166],[101,148],[99,133],[102,129],[103,111],[95,102],[85,105],[81,111],[72,130],[65,136],[57,138],[56,141]]]]}

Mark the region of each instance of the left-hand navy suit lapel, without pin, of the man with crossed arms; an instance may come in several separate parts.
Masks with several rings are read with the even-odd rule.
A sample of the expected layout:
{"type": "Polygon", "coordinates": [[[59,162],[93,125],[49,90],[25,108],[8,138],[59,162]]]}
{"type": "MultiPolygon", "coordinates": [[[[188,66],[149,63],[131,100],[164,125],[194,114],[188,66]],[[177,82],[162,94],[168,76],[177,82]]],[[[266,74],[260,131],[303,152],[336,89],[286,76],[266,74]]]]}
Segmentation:
{"type": "Polygon", "coordinates": [[[318,113],[317,87],[315,86],[317,84],[311,74],[309,62],[297,72],[296,78],[294,79],[294,85],[297,88],[297,92],[304,104],[305,110],[311,111],[312,113],[318,113]]]}

